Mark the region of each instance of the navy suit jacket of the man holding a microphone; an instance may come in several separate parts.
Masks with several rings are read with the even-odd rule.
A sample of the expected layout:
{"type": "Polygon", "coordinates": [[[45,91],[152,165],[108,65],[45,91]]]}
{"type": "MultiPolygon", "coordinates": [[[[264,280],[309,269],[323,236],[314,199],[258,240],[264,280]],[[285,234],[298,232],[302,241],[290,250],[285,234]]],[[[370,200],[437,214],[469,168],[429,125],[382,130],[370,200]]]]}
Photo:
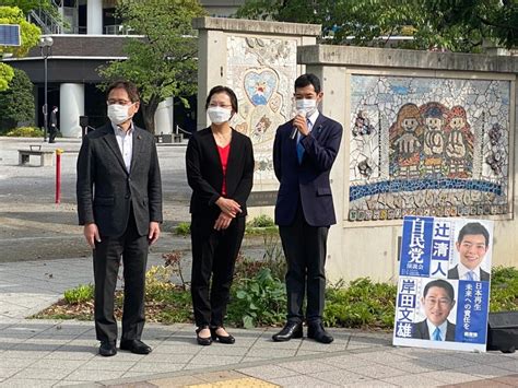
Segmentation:
{"type": "Polygon", "coordinates": [[[318,115],[311,132],[301,140],[305,149],[302,164],[297,158],[297,139],[291,138],[292,132],[293,120],[290,120],[278,128],[273,143],[273,168],[281,183],[275,223],[291,225],[301,199],[309,225],[335,224],[329,173],[340,149],[342,126],[322,114],[318,115]]]}

